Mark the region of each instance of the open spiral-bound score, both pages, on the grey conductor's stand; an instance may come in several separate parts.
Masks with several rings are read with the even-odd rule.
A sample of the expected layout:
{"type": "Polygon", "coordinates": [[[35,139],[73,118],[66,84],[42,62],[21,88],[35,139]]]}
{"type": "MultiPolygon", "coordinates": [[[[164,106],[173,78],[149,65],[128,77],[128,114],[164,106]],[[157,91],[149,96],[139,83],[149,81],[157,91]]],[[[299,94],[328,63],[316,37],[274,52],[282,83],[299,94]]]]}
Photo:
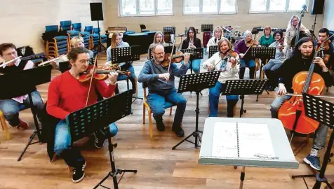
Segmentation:
{"type": "Polygon", "coordinates": [[[267,124],[217,122],[212,155],[225,158],[276,158],[267,124]]]}

